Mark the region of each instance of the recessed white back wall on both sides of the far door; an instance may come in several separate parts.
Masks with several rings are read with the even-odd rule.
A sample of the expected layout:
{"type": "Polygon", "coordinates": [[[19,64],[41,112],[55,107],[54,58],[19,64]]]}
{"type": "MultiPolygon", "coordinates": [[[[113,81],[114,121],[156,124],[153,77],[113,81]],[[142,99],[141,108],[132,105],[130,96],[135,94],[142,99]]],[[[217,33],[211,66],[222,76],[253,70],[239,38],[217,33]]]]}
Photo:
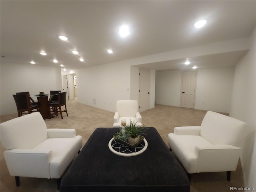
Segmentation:
{"type": "MultiPolygon", "coordinates": [[[[195,109],[229,112],[233,77],[234,67],[198,69],[195,109]]],[[[181,70],[156,71],[156,103],[180,106],[181,82],[181,70]]]]}

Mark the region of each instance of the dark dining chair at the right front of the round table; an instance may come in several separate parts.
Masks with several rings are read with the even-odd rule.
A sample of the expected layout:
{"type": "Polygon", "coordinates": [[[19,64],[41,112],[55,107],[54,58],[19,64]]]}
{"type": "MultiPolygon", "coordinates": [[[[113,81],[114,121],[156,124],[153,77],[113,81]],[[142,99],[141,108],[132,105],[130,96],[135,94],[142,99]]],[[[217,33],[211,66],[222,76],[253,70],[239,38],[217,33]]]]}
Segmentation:
{"type": "MultiPolygon", "coordinates": [[[[68,116],[68,112],[67,112],[67,106],[66,106],[66,95],[67,92],[60,92],[58,93],[58,100],[57,101],[52,101],[52,98],[49,101],[49,110],[50,107],[54,108],[54,112],[51,113],[52,115],[56,115],[58,116],[58,114],[60,114],[61,118],[63,119],[62,116],[62,112],[66,112],[67,116],[68,116]],[[61,106],[65,106],[65,110],[62,110],[61,106]]],[[[50,110],[51,112],[51,110],[50,110]]],[[[51,119],[51,115],[50,115],[50,119],[51,119]]]]}

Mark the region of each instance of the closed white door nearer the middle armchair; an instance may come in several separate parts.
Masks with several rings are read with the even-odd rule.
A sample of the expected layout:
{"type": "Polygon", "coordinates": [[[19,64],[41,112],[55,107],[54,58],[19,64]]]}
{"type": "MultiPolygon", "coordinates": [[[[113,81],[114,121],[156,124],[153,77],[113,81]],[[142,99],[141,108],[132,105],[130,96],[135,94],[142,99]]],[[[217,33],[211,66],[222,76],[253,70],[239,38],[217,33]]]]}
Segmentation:
{"type": "Polygon", "coordinates": [[[150,71],[140,69],[139,112],[148,110],[149,105],[150,105],[150,71]]]}

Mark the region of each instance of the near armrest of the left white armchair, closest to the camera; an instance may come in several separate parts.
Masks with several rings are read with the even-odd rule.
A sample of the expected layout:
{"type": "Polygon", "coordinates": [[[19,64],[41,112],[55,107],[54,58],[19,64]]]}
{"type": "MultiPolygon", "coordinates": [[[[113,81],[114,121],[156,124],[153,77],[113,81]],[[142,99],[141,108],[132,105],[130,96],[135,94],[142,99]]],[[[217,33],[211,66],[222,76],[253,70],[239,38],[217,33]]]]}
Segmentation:
{"type": "Polygon", "coordinates": [[[5,150],[4,158],[11,176],[50,178],[51,150],[5,150]]]}

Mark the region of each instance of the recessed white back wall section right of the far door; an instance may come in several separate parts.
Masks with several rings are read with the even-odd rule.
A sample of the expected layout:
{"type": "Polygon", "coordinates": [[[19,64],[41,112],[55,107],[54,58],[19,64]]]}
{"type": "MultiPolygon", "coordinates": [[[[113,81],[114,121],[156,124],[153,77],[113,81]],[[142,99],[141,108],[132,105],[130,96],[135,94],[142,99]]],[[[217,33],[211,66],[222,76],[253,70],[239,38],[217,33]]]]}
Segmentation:
{"type": "Polygon", "coordinates": [[[233,78],[234,67],[199,69],[195,108],[228,113],[233,78]]]}

